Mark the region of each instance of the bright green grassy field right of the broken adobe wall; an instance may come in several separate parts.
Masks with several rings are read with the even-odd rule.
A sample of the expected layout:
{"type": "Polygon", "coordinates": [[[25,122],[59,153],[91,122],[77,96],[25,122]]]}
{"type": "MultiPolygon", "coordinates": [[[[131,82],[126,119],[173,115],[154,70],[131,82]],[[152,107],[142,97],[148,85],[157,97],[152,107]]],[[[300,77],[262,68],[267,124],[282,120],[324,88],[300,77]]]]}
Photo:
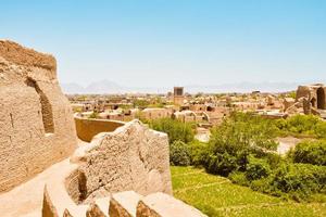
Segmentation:
{"type": "Polygon", "coordinates": [[[192,167],[171,167],[174,196],[208,216],[326,216],[326,203],[296,203],[192,167]]]}

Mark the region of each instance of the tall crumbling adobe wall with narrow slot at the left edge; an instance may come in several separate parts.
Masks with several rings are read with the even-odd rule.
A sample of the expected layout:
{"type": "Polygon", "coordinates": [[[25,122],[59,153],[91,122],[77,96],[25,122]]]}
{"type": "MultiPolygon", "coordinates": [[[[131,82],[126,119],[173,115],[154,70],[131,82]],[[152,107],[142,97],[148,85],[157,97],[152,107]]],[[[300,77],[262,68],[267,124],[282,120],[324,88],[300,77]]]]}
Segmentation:
{"type": "Polygon", "coordinates": [[[0,40],[0,192],[71,155],[76,131],[52,55],[0,40]]]}

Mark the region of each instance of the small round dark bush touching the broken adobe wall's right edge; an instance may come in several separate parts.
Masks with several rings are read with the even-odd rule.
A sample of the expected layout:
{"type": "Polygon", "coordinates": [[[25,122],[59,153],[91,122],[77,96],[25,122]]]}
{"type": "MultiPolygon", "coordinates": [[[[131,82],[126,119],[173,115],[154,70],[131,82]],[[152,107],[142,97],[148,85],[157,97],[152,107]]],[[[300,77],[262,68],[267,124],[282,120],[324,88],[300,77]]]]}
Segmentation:
{"type": "Polygon", "coordinates": [[[174,166],[190,165],[190,153],[188,144],[183,141],[174,141],[170,145],[170,164],[174,166]]]}

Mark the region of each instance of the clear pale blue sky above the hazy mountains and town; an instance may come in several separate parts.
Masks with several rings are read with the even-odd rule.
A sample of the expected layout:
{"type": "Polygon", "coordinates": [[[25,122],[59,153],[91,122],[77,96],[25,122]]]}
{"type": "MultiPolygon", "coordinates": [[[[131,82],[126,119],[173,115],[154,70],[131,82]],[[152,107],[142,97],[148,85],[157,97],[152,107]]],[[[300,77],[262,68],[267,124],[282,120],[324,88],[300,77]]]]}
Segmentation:
{"type": "Polygon", "coordinates": [[[324,0],[1,0],[0,39],[64,84],[326,82],[324,0]]]}

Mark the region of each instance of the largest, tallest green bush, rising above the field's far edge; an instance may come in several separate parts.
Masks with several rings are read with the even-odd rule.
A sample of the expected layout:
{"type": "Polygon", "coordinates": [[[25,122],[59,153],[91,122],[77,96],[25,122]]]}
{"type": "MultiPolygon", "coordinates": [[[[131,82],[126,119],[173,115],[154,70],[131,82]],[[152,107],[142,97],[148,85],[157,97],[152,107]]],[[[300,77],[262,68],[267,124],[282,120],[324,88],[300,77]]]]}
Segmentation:
{"type": "Polygon", "coordinates": [[[209,173],[228,176],[246,170],[248,155],[275,150],[276,127],[252,114],[234,113],[212,130],[203,166],[209,173]]]}

